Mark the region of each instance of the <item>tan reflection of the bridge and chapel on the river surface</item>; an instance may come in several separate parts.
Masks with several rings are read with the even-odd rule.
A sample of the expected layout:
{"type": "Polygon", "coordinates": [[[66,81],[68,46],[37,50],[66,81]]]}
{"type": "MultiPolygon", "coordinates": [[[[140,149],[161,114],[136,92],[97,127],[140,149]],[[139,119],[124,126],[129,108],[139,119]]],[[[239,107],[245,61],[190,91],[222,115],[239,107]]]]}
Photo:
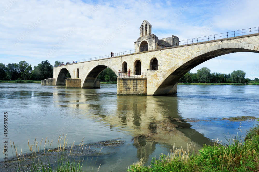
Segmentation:
{"type": "Polygon", "coordinates": [[[116,99],[107,97],[109,91],[105,93],[106,96],[100,91],[102,89],[66,89],[65,92],[62,90],[54,94],[57,95],[57,102],[64,102],[70,111],[80,110],[83,115],[78,118],[94,118],[102,125],[109,126],[111,131],[119,129],[130,135],[138,159],[145,157],[147,161],[157,144],[167,152],[173,146],[187,149],[188,143],[192,144],[191,151],[194,148],[197,152],[203,144],[212,144],[209,138],[192,129],[181,118],[177,96],[117,95],[116,99]],[[65,101],[66,98],[60,95],[68,100],[65,101]]]}

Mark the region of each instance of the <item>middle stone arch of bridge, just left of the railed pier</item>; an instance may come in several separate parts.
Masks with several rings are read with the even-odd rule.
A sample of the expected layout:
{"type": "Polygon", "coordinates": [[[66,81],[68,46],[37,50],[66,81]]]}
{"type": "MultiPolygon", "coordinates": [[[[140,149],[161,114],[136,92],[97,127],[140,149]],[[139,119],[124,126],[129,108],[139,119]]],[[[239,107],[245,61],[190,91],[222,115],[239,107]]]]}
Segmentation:
{"type": "Polygon", "coordinates": [[[110,64],[107,64],[105,62],[99,62],[94,64],[93,67],[89,70],[89,72],[85,75],[85,77],[81,81],[81,87],[93,88],[93,85],[97,77],[107,67],[109,67],[118,76],[118,71],[114,69],[110,64]]]}

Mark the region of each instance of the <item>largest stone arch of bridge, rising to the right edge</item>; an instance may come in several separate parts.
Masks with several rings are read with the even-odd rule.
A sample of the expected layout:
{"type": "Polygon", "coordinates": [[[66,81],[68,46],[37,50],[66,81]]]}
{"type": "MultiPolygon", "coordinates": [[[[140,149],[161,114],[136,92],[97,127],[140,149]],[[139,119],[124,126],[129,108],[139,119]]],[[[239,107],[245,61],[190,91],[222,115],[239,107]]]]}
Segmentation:
{"type": "Polygon", "coordinates": [[[194,53],[175,66],[156,84],[153,95],[168,94],[177,81],[197,65],[212,58],[236,52],[259,53],[258,45],[248,43],[226,43],[214,45],[194,53]]]}

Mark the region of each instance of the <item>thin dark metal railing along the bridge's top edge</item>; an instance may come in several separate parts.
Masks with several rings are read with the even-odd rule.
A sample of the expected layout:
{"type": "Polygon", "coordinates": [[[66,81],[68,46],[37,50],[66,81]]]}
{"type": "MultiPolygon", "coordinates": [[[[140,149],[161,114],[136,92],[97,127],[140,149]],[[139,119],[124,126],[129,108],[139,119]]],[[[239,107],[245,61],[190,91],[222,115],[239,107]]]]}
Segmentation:
{"type": "MultiPolygon", "coordinates": [[[[231,31],[231,32],[225,32],[225,33],[221,33],[221,34],[215,34],[215,35],[209,35],[209,36],[203,36],[203,37],[198,37],[198,38],[181,40],[181,41],[179,41],[179,45],[187,45],[187,44],[205,42],[205,41],[210,41],[210,40],[217,40],[217,39],[230,38],[230,37],[243,36],[243,35],[250,35],[250,34],[257,34],[257,33],[259,33],[259,27],[254,27],[254,28],[249,28],[249,29],[242,29],[242,30],[236,30],[236,31],[231,31]]],[[[158,50],[158,49],[161,49],[161,48],[157,48],[157,46],[149,46],[147,51],[158,50]]],[[[106,59],[106,58],[111,58],[111,57],[117,57],[117,56],[137,53],[137,52],[140,52],[141,50],[143,50],[143,49],[140,48],[140,49],[136,49],[136,50],[129,50],[129,51],[124,51],[124,52],[120,52],[120,53],[115,53],[113,56],[111,54],[109,54],[109,55],[103,55],[103,56],[98,56],[98,57],[89,58],[89,59],[77,60],[76,62],[79,63],[79,62],[86,62],[86,61],[92,61],[92,60],[100,60],[100,59],[106,59]]],[[[145,51],[141,51],[141,52],[145,52],[145,51]]],[[[73,62],[69,62],[69,64],[73,64],[73,62]]]]}

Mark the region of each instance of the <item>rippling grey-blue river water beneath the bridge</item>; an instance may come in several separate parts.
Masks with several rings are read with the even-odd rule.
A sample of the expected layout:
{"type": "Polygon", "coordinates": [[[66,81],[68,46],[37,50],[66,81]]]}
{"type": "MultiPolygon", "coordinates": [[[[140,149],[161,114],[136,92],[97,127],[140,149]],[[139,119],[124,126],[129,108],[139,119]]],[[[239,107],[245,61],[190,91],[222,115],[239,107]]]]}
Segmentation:
{"type": "MultiPolygon", "coordinates": [[[[100,89],[66,89],[36,83],[0,83],[1,124],[4,112],[8,112],[6,138],[23,153],[28,151],[29,138],[34,142],[35,137],[38,141],[48,137],[57,147],[63,133],[69,143],[75,144],[83,138],[88,145],[120,140],[121,145],[101,150],[96,170],[102,164],[99,171],[126,171],[142,157],[150,164],[152,157],[168,154],[174,145],[187,148],[191,143],[197,151],[203,144],[212,144],[212,139],[227,143],[225,137],[242,137],[256,120],[222,118],[258,118],[258,91],[259,86],[178,85],[177,94],[172,96],[121,96],[117,95],[116,84],[103,84],[100,89]],[[154,121],[168,120],[177,127],[170,131],[152,128],[154,121]]],[[[2,153],[0,156],[3,159],[2,153]]]]}

